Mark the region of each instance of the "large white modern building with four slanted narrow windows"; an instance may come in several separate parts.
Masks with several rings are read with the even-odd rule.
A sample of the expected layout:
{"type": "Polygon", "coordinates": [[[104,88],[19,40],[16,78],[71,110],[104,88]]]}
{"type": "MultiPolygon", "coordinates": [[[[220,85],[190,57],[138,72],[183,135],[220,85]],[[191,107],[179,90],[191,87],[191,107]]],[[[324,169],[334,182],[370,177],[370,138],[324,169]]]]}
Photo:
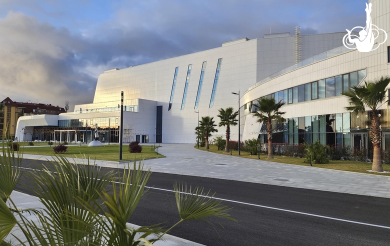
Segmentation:
{"type": "MultiPolygon", "coordinates": [[[[390,31],[390,4],[370,2],[372,23],[390,31]]],[[[198,117],[211,116],[218,123],[218,109],[237,109],[238,96],[231,92],[239,92],[241,140],[263,137],[262,126],[251,116],[252,105],[261,96],[272,96],[285,102],[287,118],[276,125],[276,141],[367,146],[368,118],[351,118],[340,93],[364,79],[390,74],[390,39],[373,51],[359,52],[343,46],[346,32],[301,35],[298,27],[295,32],[244,37],[209,50],[106,70],[97,79],[92,103],[57,116],[21,117],[16,136],[88,142],[97,124],[101,141],[118,142],[123,91],[124,142],[195,143],[198,117]],[[23,134],[22,129],[32,127],[33,135],[23,134]]],[[[384,105],[384,144],[390,144],[387,115],[384,105]]],[[[221,127],[213,136],[224,133],[221,127]]],[[[238,139],[238,127],[231,128],[231,139],[238,139]]]]}

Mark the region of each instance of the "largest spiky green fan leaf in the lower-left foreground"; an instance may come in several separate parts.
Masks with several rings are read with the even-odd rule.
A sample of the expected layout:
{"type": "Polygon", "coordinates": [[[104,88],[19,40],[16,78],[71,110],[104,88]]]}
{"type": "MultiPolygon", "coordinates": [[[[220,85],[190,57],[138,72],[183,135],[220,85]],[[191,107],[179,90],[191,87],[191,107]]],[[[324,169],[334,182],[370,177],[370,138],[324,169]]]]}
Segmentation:
{"type": "Polygon", "coordinates": [[[97,210],[86,210],[85,203],[95,201],[108,185],[112,172],[98,178],[99,168],[87,164],[72,165],[64,157],[52,162],[54,171],[34,170],[31,174],[31,190],[43,203],[43,213],[38,215],[41,227],[27,223],[27,238],[45,245],[98,245],[100,231],[96,230],[97,210]]]}

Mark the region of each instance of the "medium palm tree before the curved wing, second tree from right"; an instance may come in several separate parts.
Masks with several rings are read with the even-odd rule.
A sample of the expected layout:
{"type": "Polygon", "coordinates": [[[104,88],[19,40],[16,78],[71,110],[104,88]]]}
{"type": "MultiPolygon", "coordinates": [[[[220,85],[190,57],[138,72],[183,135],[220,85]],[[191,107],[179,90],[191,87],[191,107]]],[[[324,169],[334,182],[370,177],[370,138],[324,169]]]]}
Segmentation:
{"type": "Polygon", "coordinates": [[[273,158],[272,149],[272,119],[284,121],[283,115],[285,112],[280,112],[279,109],[284,102],[275,102],[273,98],[261,97],[257,100],[258,105],[253,104],[258,108],[258,111],[254,112],[253,117],[257,117],[257,122],[267,124],[267,138],[268,138],[268,158],[273,158]]]}

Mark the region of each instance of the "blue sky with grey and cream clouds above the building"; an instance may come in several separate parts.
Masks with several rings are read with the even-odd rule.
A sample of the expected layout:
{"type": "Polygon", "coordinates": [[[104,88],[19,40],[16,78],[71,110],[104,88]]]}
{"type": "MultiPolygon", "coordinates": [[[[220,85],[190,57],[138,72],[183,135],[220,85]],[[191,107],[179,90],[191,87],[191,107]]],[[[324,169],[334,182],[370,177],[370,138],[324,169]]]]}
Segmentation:
{"type": "MultiPolygon", "coordinates": [[[[97,76],[264,34],[345,32],[367,0],[0,0],[0,100],[91,103],[97,76]]],[[[345,32],[346,33],[346,32],[345,32]]]]}

